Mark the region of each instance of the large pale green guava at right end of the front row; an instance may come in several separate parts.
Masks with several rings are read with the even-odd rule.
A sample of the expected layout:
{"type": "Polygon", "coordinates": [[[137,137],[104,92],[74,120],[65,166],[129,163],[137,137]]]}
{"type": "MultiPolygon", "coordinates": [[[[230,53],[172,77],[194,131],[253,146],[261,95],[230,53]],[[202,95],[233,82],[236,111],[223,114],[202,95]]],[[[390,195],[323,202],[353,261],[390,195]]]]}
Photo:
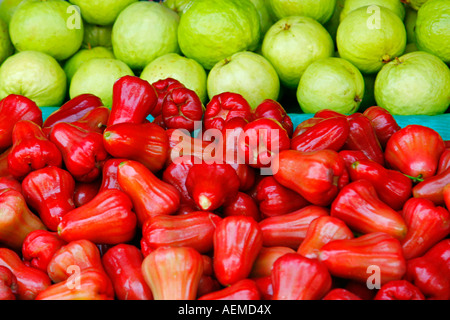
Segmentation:
{"type": "Polygon", "coordinates": [[[394,115],[437,115],[450,105],[450,69],[423,51],[386,64],[375,80],[378,105],[394,115]]]}

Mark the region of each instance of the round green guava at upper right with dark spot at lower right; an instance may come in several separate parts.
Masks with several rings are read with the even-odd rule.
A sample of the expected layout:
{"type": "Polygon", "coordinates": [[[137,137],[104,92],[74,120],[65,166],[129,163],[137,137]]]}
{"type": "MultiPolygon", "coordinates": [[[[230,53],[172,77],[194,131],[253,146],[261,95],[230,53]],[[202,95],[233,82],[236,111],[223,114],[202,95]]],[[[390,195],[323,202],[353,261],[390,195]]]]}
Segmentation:
{"type": "Polygon", "coordinates": [[[362,7],[341,21],[336,45],[340,57],[353,63],[362,73],[376,73],[385,63],[403,54],[406,29],[391,10],[362,7]]]}

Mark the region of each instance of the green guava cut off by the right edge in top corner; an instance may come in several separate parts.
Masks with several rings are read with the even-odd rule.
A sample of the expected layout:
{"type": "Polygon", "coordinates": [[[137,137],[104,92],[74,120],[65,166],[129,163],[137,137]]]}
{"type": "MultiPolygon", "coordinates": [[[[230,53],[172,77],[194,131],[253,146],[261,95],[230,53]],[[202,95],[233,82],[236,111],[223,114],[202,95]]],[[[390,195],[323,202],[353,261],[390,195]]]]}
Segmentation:
{"type": "Polygon", "coordinates": [[[450,63],[450,0],[432,0],[420,7],[415,36],[419,50],[450,63]]]}

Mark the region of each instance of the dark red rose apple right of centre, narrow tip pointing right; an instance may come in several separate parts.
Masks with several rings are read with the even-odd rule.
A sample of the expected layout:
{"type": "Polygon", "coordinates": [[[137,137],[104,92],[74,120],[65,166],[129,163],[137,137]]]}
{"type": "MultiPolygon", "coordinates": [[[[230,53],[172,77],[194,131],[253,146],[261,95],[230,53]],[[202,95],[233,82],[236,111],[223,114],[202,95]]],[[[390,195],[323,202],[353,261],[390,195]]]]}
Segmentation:
{"type": "Polygon", "coordinates": [[[273,176],[264,176],[257,183],[255,199],[264,218],[294,212],[309,205],[305,198],[284,187],[273,176]]]}

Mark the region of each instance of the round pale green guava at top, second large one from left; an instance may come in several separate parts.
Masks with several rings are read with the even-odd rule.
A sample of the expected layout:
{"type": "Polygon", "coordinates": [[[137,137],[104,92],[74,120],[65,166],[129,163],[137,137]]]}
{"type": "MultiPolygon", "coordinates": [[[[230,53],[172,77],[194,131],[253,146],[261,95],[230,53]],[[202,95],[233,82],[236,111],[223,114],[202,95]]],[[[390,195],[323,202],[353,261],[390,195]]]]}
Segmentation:
{"type": "Polygon", "coordinates": [[[114,55],[131,69],[142,70],[157,57],[178,53],[178,23],[178,15],[161,3],[133,3],[114,23],[114,55]]]}

